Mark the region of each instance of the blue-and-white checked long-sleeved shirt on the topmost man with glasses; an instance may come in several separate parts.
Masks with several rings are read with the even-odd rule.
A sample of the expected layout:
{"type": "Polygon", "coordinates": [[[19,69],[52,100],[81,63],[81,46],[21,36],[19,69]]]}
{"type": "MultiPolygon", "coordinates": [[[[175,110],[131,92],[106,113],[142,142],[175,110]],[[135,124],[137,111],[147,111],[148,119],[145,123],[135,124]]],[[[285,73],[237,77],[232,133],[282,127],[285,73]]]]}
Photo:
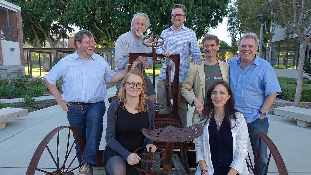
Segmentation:
{"type": "MultiPolygon", "coordinates": [[[[156,48],[157,54],[162,54],[164,51],[169,51],[171,54],[180,54],[180,67],[179,67],[179,82],[183,82],[189,68],[190,68],[190,56],[193,58],[194,64],[198,59],[201,59],[201,51],[197,42],[197,36],[195,32],[184,25],[181,26],[178,31],[173,30],[173,26],[162,31],[161,36],[165,39],[165,43],[156,48]]],[[[166,79],[166,66],[171,66],[171,82],[174,80],[175,63],[166,58],[165,64],[160,71],[160,77],[166,79]]]]}

